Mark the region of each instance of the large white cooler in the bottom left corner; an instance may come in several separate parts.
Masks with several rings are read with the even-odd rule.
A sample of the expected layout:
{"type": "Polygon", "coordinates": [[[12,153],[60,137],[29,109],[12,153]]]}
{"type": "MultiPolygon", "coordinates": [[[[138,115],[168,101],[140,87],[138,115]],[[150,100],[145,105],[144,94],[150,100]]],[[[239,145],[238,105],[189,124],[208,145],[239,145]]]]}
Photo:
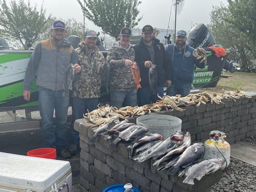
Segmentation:
{"type": "Polygon", "coordinates": [[[71,192],[70,162],[0,152],[0,192],[71,192]]]}

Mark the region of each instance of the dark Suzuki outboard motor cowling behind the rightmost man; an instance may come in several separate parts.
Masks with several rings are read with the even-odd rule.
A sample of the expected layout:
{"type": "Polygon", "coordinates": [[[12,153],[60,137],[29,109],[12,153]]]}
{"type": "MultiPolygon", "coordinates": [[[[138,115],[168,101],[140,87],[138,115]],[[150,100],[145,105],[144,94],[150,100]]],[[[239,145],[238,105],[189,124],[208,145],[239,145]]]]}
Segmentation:
{"type": "Polygon", "coordinates": [[[210,29],[203,23],[196,24],[188,34],[187,41],[191,47],[209,47],[215,44],[215,38],[210,29]]]}

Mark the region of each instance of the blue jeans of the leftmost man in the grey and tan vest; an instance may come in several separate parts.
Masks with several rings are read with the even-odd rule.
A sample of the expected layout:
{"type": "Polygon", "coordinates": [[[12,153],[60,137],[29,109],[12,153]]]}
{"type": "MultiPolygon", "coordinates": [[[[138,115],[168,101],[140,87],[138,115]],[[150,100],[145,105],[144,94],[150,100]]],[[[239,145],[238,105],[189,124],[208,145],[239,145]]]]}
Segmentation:
{"type": "Polygon", "coordinates": [[[67,109],[69,97],[63,91],[39,90],[39,111],[41,116],[43,147],[54,147],[58,152],[67,147],[67,109]],[[55,110],[56,127],[53,127],[55,110]]]}

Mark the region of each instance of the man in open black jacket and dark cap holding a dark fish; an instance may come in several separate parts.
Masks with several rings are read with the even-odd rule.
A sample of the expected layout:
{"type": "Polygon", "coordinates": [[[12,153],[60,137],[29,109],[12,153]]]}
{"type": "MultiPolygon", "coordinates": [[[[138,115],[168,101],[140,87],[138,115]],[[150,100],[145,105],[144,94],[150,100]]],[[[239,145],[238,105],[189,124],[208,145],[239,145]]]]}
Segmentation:
{"type": "MultiPolygon", "coordinates": [[[[164,45],[154,37],[153,27],[142,28],[141,40],[135,49],[135,61],[140,68],[141,88],[137,91],[138,105],[147,105],[159,100],[157,94],[164,95],[165,81],[165,49],[164,45]]],[[[167,80],[166,83],[171,83],[167,80]]]]}

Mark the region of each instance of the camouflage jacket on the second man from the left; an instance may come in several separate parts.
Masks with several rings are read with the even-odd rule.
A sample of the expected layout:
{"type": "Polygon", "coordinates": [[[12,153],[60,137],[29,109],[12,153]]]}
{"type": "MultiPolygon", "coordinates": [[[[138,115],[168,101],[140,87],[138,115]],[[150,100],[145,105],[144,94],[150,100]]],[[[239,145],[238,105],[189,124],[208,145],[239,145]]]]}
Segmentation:
{"type": "Polygon", "coordinates": [[[98,98],[100,97],[102,67],[105,57],[95,46],[94,52],[88,53],[85,42],[80,42],[76,48],[81,73],[73,81],[72,97],[98,98]]]}

